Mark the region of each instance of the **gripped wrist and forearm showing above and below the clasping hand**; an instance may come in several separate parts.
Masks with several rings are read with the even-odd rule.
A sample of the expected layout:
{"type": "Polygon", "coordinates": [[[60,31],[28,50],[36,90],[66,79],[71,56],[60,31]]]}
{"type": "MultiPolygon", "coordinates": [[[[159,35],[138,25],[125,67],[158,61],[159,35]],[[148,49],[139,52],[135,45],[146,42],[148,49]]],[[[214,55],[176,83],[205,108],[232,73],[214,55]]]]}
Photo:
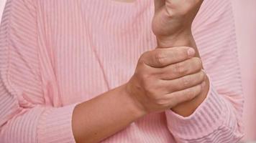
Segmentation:
{"type": "MultiPolygon", "coordinates": [[[[157,47],[158,48],[168,48],[174,46],[189,46],[195,49],[196,56],[200,58],[196,42],[193,39],[191,31],[180,31],[180,33],[173,36],[157,37],[157,47]]],[[[172,108],[173,112],[180,114],[183,117],[188,117],[196,110],[196,108],[204,102],[209,91],[209,79],[206,77],[206,86],[196,98],[192,99],[189,102],[183,102],[178,104],[178,106],[172,108]]]]}

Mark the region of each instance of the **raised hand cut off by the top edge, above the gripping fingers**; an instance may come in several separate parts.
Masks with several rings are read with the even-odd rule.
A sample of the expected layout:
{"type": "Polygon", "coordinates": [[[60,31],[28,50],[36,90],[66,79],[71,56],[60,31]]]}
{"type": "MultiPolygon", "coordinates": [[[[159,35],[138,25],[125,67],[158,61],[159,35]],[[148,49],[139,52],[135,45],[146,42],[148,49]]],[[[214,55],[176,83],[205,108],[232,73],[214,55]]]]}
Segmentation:
{"type": "Polygon", "coordinates": [[[177,43],[177,39],[191,39],[191,25],[203,1],[155,0],[152,31],[157,36],[158,44],[170,47],[172,44],[169,43],[177,43]]]}

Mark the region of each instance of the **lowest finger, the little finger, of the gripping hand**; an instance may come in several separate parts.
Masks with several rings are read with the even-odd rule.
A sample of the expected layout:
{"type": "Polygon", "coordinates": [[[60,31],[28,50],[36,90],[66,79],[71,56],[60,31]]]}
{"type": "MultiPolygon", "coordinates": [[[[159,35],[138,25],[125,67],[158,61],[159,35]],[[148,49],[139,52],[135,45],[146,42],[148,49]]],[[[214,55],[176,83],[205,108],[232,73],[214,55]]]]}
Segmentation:
{"type": "Polygon", "coordinates": [[[204,87],[206,87],[205,85],[206,83],[203,82],[202,84],[198,84],[194,87],[184,89],[182,91],[166,94],[165,96],[168,97],[169,101],[168,104],[170,107],[175,107],[180,103],[191,101],[203,91],[204,87]]]}

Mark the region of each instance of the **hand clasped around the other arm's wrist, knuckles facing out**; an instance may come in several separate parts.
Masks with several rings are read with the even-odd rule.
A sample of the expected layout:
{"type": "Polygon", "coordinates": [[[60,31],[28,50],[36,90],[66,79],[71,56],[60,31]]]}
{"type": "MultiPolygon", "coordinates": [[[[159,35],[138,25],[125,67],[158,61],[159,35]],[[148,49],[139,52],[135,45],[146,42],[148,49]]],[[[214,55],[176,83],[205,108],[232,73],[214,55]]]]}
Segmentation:
{"type": "Polygon", "coordinates": [[[204,89],[206,77],[194,54],[188,47],[145,52],[126,84],[127,93],[147,113],[163,112],[192,100],[204,89]]]}

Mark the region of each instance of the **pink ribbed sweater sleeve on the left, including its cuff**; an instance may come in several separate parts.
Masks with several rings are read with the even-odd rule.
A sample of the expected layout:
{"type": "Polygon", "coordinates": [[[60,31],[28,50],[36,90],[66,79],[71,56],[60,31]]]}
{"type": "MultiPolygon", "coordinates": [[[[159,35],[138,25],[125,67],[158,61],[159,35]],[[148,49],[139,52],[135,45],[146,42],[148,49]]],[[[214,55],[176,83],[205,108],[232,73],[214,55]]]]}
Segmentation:
{"type": "MultiPolygon", "coordinates": [[[[45,104],[33,0],[7,0],[0,26],[0,142],[75,142],[76,104],[45,104]]],[[[47,89],[50,90],[50,89],[47,89]]]]}

